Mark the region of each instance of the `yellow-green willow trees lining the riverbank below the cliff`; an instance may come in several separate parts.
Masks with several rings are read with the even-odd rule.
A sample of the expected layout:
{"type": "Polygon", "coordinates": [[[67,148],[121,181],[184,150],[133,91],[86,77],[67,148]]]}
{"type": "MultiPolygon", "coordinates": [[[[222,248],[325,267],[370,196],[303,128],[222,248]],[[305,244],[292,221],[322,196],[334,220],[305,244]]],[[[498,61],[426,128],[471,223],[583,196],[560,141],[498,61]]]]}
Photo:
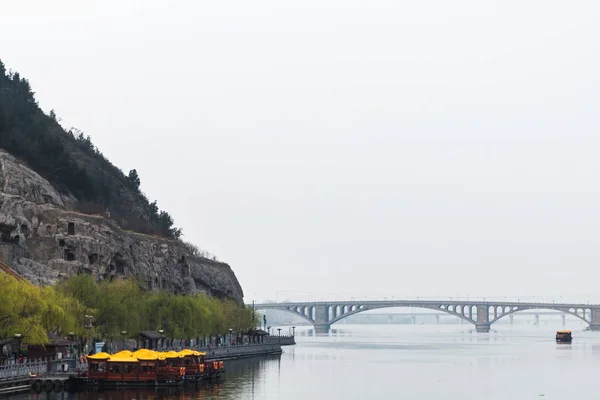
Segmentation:
{"type": "Polygon", "coordinates": [[[143,291],[133,281],[96,283],[75,275],[56,287],[38,287],[0,274],[0,339],[20,333],[29,344],[47,343],[46,333],[119,339],[143,330],[168,338],[224,335],[252,326],[252,310],[232,300],[143,291]],[[86,330],[84,316],[93,316],[86,330]]]}

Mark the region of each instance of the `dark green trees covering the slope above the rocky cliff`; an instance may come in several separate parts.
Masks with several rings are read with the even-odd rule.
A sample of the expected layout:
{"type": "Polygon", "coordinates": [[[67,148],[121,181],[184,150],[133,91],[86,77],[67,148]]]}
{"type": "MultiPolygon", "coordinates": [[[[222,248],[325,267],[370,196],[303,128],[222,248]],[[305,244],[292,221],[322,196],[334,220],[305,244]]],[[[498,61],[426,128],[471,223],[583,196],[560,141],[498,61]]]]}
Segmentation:
{"type": "Polygon", "coordinates": [[[65,131],[51,111],[38,107],[29,82],[7,72],[0,60],[0,148],[20,158],[59,191],[71,194],[81,212],[104,215],[125,229],[179,238],[171,215],[140,191],[140,177],[125,175],[83,132],[65,131]]]}

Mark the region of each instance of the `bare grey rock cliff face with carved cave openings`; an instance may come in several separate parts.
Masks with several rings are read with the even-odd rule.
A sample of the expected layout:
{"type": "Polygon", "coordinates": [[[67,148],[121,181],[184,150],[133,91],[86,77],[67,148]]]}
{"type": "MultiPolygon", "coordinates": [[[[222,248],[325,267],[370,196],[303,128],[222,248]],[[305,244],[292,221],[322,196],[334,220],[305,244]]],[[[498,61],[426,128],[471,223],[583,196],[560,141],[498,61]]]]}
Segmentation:
{"type": "Polygon", "coordinates": [[[0,149],[0,259],[36,284],[86,273],[242,302],[229,265],[193,257],[179,241],[123,231],[110,218],[71,211],[75,202],[0,149]]]}

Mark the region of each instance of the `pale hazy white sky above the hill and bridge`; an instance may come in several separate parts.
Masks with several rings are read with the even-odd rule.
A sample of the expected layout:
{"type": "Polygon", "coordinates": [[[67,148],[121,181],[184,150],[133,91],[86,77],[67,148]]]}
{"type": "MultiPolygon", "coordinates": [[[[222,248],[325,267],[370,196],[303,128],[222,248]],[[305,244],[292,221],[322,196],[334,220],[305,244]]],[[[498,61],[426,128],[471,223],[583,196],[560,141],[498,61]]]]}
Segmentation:
{"type": "Polygon", "coordinates": [[[0,59],[246,301],[600,303],[600,4],[2,4],[0,59]]]}

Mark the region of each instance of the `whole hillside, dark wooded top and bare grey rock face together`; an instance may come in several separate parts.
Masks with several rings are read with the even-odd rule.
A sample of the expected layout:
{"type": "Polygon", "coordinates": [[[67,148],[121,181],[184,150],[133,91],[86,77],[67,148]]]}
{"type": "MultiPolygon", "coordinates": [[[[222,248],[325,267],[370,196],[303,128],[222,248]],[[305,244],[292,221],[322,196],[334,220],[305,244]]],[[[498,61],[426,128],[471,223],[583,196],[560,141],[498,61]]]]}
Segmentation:
{"type": "Polygon", "coordinates": [[[0,260],[40,285],[86,274],[241,303],[230,266],[179,240],[139,183],[45,115],[27,80],[0,62],[0,260]]]}

